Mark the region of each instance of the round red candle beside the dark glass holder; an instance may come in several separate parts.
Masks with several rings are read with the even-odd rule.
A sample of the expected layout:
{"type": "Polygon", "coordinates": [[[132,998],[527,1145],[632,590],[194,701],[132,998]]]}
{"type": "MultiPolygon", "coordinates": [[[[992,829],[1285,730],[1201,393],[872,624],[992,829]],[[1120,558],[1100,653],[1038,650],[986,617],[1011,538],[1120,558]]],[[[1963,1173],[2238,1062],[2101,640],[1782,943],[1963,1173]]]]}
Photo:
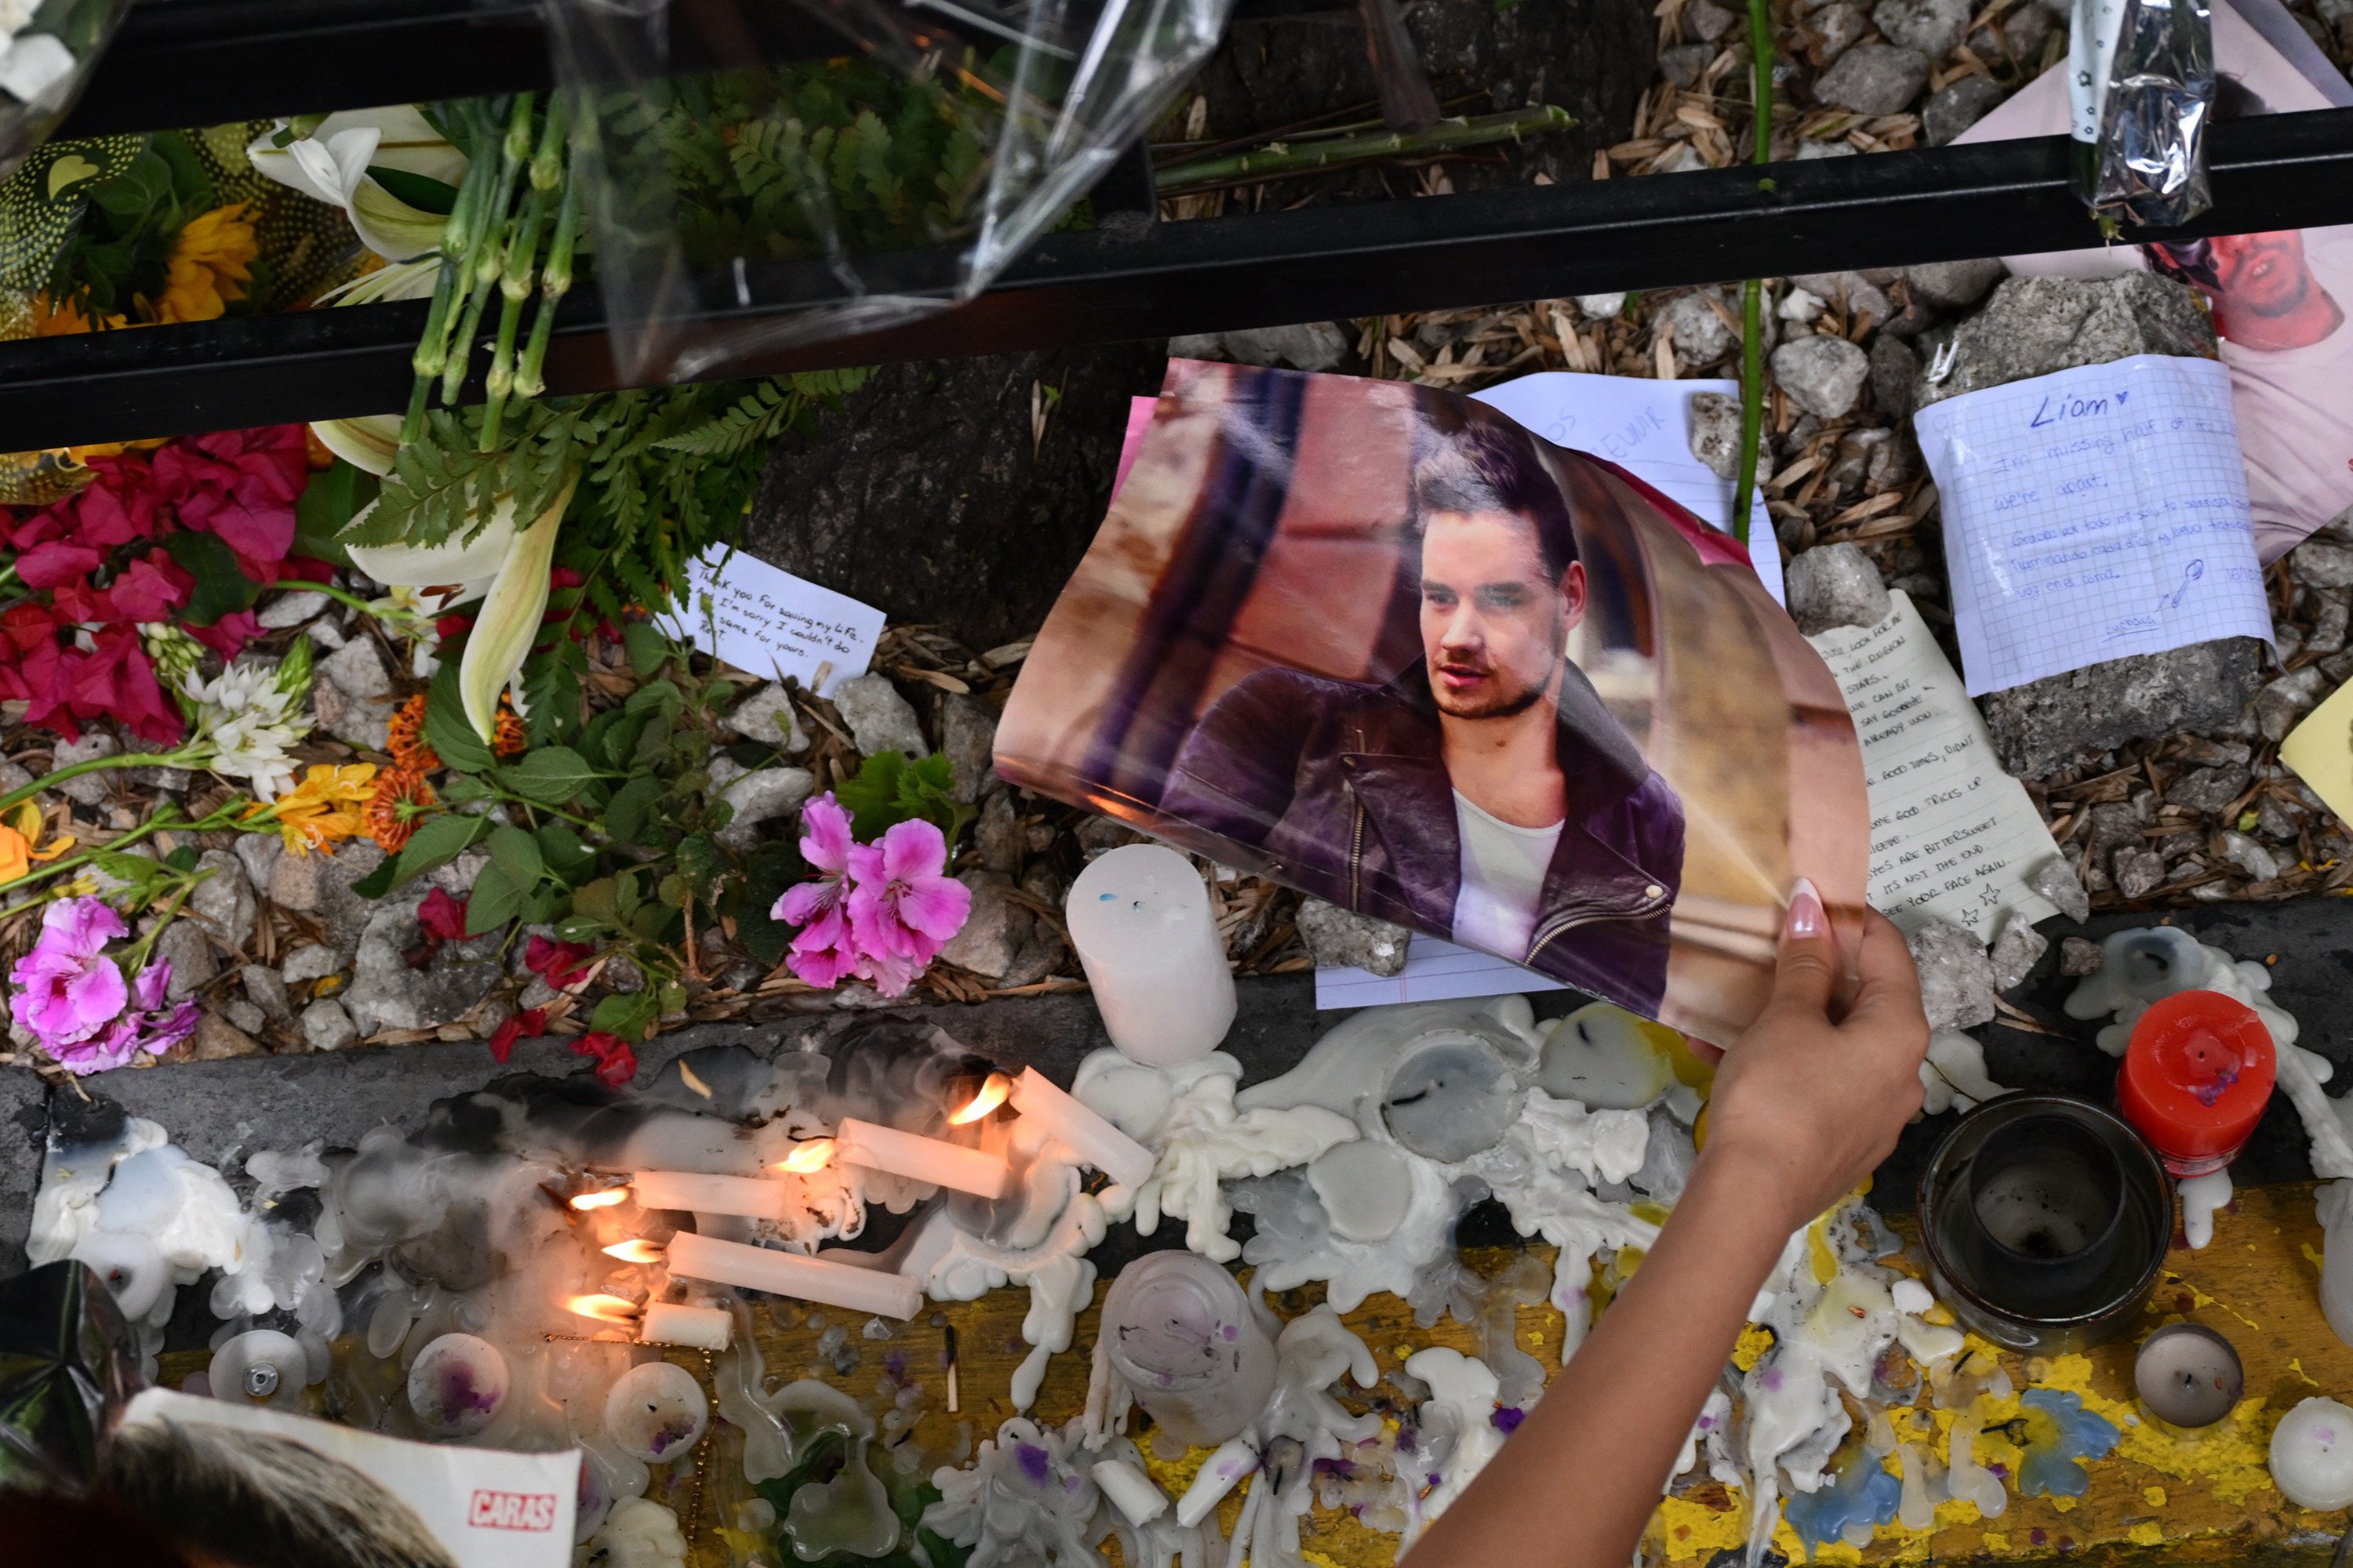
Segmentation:
{"type": "Polygon", "coordinates": [[[2221,992],[2162,997],[2132,1025],[2115,1107],[2174,1175],[2231,1164],[2271,1103],[2278,1060],[2252,1006],[2221,992]]]}

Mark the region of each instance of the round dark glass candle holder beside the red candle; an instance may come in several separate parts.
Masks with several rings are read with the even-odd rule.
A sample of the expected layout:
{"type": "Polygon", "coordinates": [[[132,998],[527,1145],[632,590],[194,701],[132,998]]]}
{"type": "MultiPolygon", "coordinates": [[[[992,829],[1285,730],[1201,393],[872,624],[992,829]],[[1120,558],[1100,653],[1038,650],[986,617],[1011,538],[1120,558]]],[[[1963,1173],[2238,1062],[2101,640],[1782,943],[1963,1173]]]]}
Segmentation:
{"type": "Polygon", "coordinates": [[[2089,1100],[2009,1093],[1960,1117],[1920,1173],[1937,1298],[2035,1354],[2113,1338],[2148,1298],[2174,1190],[2148,1143],[2089,1100]]]}

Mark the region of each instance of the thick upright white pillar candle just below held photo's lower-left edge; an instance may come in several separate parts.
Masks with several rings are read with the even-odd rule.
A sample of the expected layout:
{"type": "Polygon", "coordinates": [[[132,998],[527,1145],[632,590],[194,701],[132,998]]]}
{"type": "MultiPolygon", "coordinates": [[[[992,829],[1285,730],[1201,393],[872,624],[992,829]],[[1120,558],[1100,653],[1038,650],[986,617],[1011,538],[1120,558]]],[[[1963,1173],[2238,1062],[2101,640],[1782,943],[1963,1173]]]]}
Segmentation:
{"type": "Polygon", "coordinates": [[[1096,856],[1064,903],[1111,1044],[1151,1067],[1217,1051],[1233,1027],[1233,971],[1193,863],[1162,844],[1096,856]]]}

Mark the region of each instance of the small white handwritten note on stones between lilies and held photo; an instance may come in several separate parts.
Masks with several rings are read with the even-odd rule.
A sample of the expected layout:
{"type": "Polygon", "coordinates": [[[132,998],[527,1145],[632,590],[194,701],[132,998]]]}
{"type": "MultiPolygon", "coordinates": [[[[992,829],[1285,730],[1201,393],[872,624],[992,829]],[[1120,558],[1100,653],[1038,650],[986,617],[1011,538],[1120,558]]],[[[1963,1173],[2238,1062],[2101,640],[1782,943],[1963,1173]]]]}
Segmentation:
{"type": "Polygon", "coordinates": [[[753,675],[798,677],[816,696],[866,675],[882,611],[819,588],[755,555],[713,552],[687,562],[687,595],[666,623],[713,658],[753,675]]]}

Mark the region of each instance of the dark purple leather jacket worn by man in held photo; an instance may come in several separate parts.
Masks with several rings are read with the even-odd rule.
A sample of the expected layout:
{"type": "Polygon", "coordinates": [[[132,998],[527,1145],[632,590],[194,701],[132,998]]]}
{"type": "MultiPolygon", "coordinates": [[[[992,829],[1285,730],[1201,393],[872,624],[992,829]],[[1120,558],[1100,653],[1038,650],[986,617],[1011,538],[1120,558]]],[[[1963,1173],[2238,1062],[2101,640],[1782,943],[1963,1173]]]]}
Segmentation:
{"type": "MultiPolygon", "coordinates": [[[[1560,691],[1560,771],[1569,809],[1529,950],[1501,957],[1654,1016],[1682,802],[1577,665],[1560,691]]],[[[1419,663],[1386,686],[1247,675],[1186,736],[1160,811],[1235,844],[1247,870],[1452,936],[1461,830],[1419,663]]]]}

